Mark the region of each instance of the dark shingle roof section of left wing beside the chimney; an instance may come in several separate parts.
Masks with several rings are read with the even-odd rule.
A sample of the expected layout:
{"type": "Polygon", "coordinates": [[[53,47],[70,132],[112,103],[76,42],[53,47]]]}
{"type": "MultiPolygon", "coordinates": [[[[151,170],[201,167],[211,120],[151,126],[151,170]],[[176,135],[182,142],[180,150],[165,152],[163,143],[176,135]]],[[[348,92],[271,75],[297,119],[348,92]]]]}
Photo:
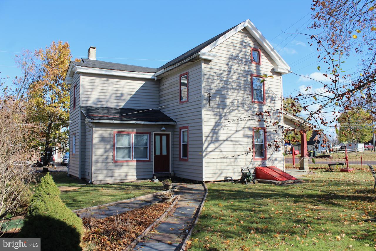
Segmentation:
{"type": "Polygon", "coordinates": [[[111,63],[99,60],[91,60],[82,58],[83,62],[74,62],[74,65],[84,66],[84,67],[92,67],[92,68],[101,68],[101,69],[109,69],[109,70],[119,70],[119,71],[134,71],[134,72],[157,72],[157,68],[149,68],[137,65],[130,65],[130,64],[118,64],[118,63],[111,63]]]}

